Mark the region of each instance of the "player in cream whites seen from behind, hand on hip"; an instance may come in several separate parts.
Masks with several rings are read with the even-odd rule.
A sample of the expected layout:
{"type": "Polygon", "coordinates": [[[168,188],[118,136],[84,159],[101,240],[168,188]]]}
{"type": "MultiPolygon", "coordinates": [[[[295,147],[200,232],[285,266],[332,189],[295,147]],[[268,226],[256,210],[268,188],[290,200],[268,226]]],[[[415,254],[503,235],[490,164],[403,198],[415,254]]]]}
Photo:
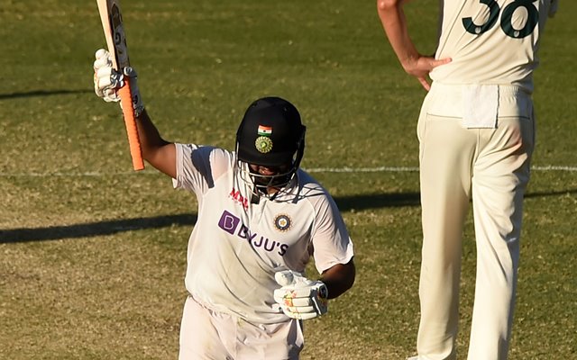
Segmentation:
{"type": "Polygon", "coordinates": [[[503,360],[513,322],[537,49],[556,0],[444,0],[435,56],[408,34],[408,0],[378,0],[389,43],[428,91],[417,121],[423,247],[415,360],[455,359],[463,224],[477,247],[469,360],[503,360]],[[430,76],[430,79],[429,79],[430,76]]]}

